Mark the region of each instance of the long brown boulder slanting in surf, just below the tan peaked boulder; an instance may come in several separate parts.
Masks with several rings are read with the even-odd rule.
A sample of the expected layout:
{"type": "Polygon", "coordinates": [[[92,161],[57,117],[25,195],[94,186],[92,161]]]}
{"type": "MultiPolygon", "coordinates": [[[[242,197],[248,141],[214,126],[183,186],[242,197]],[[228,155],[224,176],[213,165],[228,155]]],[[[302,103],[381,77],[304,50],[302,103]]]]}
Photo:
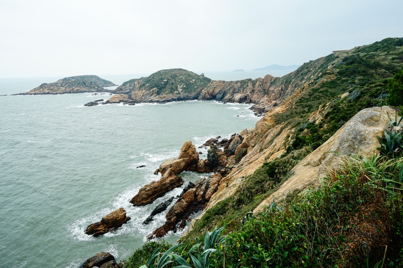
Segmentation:
{"type": "Polygon", "coordinates": [[[172,172],[172,168],[168,168],[160,180],[145,185],[129,202],[133,204],[133,206],[151,204],[157,198],[162,197],[165,193],[177,187],[180,187],[182,184],[182,178],[172,172]]]}

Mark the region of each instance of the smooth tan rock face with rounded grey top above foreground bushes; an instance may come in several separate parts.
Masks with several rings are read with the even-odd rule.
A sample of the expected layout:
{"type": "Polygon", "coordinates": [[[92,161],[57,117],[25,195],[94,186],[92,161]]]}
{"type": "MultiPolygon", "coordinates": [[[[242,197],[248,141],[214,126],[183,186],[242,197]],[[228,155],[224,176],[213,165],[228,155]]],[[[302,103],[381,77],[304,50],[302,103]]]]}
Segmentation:
{"type": "Polygon", "coordinates": [[[279,199],[287,193],[303,188],[317,180],[323,175],[321,165],[330,164],[333,157],[338,155],[329,152],[339,152],[341,155],[358,154],[367,157],[371,154],[378,154],[377,136],[383,135],[383,131],[389,123],[387,112],[394,116],[394,111],[387,106],[368,108],[358,112],[325,143],[299,162],[292,169],[294,174],[275,193],[259,204],[253,212],[262,211],[264,207],[271,205],[274,198],[279,199]]]}

